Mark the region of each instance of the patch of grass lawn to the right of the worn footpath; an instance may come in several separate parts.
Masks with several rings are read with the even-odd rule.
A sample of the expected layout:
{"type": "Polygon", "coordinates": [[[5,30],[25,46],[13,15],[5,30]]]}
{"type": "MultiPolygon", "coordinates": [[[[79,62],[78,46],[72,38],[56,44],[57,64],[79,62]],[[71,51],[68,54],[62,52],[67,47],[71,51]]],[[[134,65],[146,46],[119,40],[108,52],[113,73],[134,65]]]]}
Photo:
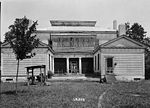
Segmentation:
{"type": "Polygon", "coordinates": [[[150,81],[118,82],[103,97],[104,108],[150,108],[150,81]]]}

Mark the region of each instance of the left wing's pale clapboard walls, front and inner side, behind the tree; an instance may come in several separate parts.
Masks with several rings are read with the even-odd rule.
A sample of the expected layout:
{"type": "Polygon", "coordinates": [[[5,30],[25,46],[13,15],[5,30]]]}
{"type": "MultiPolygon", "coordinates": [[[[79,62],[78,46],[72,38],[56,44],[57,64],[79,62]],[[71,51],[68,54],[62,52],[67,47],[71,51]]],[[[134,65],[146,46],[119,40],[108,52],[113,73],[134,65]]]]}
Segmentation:
{"type": "MultiPolygon", "coordinates": [[[[37,48],[34,50],[34,52],[36,53],[36,55],[31,59],[24,59],[20,61],[19,75],[26,75],[25,67],[27,66],[46,65],[46,71],[49,70],[49,54],[50,56],[53,56],[53,54],[47,48],[37,48]]],[[[15,76],[17,71],[17,61],[15,55],[12,53],[12,49],[2,48],[1,54],[1,60],[3,61],[2,76],[15,76]]],[[[52,70],[53,63],[51,63],[50,65],[50,70],[52,70]]],[[[39,73],[39,69],[35,70],[35,72],[39,73]]]]}

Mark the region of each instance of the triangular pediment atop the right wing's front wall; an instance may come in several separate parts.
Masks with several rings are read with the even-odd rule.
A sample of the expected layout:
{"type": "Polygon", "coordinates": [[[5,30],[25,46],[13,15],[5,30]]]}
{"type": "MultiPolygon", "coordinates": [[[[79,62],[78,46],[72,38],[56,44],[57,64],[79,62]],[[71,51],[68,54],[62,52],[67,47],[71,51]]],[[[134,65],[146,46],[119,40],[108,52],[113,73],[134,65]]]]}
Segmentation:
{"type": "Polygon", "coordinates": [[[127,36],[121,36],[113,40],[110,40],[102,44],[101,47],[145,48],[143,44],[127,36]]]}

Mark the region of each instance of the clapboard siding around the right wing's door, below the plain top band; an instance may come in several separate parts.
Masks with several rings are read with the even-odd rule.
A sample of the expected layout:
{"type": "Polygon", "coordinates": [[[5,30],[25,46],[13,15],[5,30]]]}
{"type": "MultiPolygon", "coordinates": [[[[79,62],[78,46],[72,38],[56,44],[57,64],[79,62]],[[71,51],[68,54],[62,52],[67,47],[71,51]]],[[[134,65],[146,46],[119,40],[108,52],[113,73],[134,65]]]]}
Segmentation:
{"type": "Polygon", "coordinates": [[[114,73],[121,76],[144,76],[143,54],[102,54],[102,73],[105,74],[105,57],[112,56],[114,73]]]}

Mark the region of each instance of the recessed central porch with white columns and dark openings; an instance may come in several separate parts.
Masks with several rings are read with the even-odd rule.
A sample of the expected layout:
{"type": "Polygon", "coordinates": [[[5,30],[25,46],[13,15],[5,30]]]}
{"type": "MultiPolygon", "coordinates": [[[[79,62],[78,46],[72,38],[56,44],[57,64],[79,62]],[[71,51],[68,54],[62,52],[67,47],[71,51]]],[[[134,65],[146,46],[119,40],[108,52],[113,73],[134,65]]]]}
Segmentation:
{"type": "Polygon", "coordinates": [[[54,77],[83,77],[92,74],[92,57],[54,58],[54,77]]]}

